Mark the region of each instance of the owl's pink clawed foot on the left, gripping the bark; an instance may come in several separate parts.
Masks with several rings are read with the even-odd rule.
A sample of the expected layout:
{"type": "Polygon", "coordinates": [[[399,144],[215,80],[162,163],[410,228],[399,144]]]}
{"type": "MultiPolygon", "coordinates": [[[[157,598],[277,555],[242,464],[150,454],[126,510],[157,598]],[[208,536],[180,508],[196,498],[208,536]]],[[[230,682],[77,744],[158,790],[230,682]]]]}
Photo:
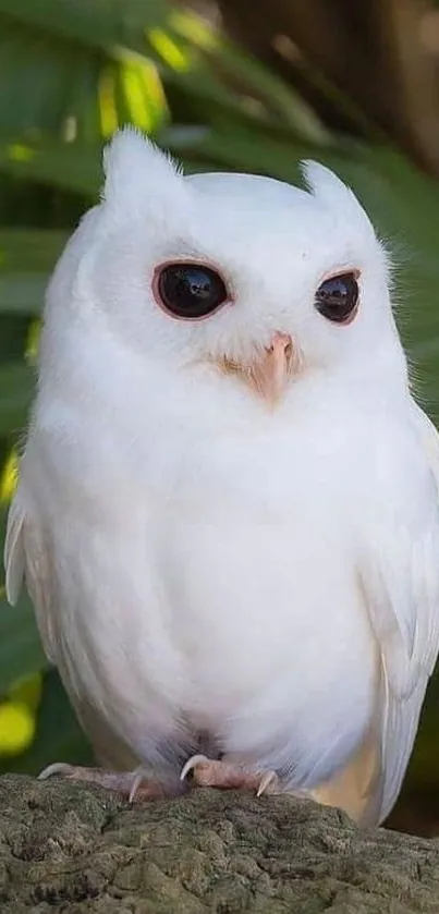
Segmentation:
{"type": "Polygon", "coordinates": [[[138,800],[159,800],[171,795],[169,789],[160,781],[148,778],[147,772],[142,768],[136,768],[134,771],[107,771],[105,768],[83,768],[56,761],[38,775],[38,780],[45,781],[53,775],[61,775],[72,781],[100,784],[107,790],[123,794],[130,803],[135,796],[138,800]]]}

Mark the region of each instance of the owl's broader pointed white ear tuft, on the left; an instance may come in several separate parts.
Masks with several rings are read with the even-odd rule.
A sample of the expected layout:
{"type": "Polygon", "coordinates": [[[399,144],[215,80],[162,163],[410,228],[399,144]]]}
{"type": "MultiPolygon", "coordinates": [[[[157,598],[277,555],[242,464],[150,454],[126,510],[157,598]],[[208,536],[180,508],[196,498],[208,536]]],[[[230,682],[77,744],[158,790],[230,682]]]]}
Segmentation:
{"type": "Polygon", "coordinates": [[[180,169],[171,157],[131,126],[119,131],[103,150],[103,172],[107,203],[180,180],[180,169]]]}

